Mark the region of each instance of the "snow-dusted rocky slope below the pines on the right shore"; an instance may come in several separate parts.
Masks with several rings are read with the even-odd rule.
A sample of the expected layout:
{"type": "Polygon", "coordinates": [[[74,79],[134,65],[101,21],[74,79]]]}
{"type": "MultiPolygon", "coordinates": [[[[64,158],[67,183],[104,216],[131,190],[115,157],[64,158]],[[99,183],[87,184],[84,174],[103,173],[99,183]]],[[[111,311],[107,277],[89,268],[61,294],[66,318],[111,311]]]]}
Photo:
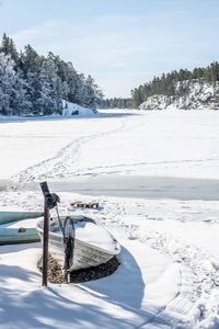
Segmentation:
{"type": "Polygon", "coordinates": [[[198,80],[176,83],[175,95],[153,95],[140,110],[219,110],[219,83],[215,86],[198,80]]]}

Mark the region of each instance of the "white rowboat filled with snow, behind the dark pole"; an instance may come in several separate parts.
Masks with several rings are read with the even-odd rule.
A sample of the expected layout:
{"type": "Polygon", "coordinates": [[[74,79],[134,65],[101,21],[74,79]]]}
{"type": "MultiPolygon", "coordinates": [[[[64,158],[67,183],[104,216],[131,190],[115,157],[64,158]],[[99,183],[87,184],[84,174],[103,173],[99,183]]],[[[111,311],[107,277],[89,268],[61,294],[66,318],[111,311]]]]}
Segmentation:
{"type": "MultiPolygon", "coordinates": [[[[94,219],[74,215],[69,216],[74,224],[76,238],[73,249],[73,263],[70,271],[97,266],[106,263],[114,256],[120,252],[118,241],[94,219]]],[[[60,217],[64,224],[66,217],[60,217]]],[[[43,240],[44,219],[37,223],[36,229],[43,240]]],[[[49,253],[64,265],[65,246],[64,235],[61,232],[57,217],[50,218],[49,227],[49,253]]]]}

